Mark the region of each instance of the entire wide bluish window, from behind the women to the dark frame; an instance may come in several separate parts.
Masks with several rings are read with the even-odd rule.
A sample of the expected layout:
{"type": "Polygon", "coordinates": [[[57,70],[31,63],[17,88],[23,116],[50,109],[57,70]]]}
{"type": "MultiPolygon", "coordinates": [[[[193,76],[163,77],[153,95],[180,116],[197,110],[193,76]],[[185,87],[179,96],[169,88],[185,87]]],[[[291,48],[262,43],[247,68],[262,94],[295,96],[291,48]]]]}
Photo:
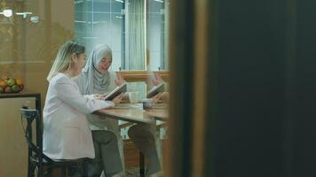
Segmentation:
{"type": "Polygon", "coordinates": [[[112,70],[168,69],[168,3],[162,0],[75,0],[75,39],[87,48],[108,44],[112,70]]]}

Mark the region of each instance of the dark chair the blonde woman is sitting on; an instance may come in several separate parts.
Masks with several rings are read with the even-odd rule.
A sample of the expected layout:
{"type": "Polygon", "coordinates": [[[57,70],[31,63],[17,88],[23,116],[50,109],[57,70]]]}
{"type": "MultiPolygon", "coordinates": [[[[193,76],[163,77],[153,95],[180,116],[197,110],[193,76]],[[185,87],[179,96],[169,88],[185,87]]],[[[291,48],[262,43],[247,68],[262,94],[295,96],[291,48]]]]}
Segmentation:
{"type": "Polygon", "coordinates": [[[87,158],[75,160],[53,160],[43,154],[43,131],[40,113],[37,110],[21,109],[21,121],[26,119],[27,126],[24,128],[25,136],[28,142],[28,177],[34,177],[37,168],[37,177],[47,176],[54,169],[61,169],[62,176],[66,176],[67,169],[73,167],[83,172],[83,176],[88,176],[87,158]],[[36,141],[32,137],[33,122],[36,122],[35,134],[36,141]]]}

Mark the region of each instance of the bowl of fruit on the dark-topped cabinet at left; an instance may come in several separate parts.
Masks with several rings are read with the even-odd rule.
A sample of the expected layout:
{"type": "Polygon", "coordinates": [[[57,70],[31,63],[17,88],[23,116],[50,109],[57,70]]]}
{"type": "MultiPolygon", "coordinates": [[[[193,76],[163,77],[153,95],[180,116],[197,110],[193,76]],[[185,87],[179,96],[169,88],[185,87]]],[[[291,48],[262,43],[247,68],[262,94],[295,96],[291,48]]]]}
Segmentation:
{"type": "Polygon", "coordinates": [[[24,88],[23,81],[12,77],[3,77],[0,79],[0,93],[10,94],[19,93],[24,88]]]}

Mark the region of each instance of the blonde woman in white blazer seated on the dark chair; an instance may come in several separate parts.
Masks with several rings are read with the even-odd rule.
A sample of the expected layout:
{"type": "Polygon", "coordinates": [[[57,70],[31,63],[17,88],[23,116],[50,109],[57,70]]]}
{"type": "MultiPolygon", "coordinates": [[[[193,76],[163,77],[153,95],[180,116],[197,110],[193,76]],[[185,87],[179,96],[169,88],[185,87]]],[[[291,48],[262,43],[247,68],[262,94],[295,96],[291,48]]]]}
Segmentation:
{"type": "MultiPolygon", "coordinates": [[[[94,158],[95,151],[86,114],[115,106],[98,95],[82,95],[75,81],[85,65],[85,49],[65,42],[51,67],[43,108],[43,153],[53,159],[94,158]]],[[[117,176],[115,173],[112,176],[117,176]]]]}

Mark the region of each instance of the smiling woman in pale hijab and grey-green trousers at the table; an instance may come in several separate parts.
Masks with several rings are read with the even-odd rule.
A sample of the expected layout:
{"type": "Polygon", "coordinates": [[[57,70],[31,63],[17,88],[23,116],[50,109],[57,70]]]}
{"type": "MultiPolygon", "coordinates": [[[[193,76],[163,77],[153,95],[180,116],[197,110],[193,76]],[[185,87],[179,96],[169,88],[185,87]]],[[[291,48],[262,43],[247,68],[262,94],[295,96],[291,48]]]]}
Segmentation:
{"type": "MultiPolygon", "coordinates": [[[[75,82],[83,94],[106,94],[121,85],[121,75],[115,76],[109,71],[112,64],[112,50],[107,45],[99,45],[92,50],[87,63],[75,82]],[[116,79],[115,79],[116,78],[116,79]]],[[[123,173],[122,138],[119,134],[118,121],[116,119],[100,119],[99,115],[89,115],[90,128],[96,158],[89,165],[89,173],[92,176],[100,176],[102,171],[106,176],[123,173]]]]}

